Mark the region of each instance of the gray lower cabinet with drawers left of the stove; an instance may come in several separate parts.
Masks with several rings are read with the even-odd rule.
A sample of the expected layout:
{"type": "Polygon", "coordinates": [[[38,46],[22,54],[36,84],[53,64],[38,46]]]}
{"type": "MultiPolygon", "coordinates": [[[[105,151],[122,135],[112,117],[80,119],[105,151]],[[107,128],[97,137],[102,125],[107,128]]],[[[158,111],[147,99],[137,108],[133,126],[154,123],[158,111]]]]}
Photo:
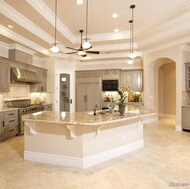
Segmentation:
{"type": "Polygon", "coordinates": [[[0,140],[18,134],[18,110],[0,113],[0,140]]]}

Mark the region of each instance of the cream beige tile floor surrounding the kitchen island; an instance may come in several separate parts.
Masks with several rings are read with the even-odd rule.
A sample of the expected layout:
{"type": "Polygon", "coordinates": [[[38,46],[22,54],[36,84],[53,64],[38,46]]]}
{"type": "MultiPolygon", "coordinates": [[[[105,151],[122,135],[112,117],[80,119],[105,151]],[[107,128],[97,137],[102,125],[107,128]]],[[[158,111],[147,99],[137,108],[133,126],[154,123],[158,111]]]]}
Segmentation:
{"type": "Polygon", "coordinates": [[[190,132],[175,121],[144,125],[145,146],[80,170],[23,160],[24,141],[0,142],[0,189],[190,189],[190,132]]]}

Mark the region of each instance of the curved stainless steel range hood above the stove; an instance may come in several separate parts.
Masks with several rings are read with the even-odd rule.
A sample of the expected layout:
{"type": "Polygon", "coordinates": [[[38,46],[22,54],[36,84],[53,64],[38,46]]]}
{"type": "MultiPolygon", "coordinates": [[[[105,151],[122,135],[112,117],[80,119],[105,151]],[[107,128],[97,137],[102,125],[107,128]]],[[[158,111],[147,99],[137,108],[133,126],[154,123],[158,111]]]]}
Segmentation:
{"type": "Polygon", "coordinates": [[[36,72],[11,67],[11,83],[41,83],[36,72]]]}

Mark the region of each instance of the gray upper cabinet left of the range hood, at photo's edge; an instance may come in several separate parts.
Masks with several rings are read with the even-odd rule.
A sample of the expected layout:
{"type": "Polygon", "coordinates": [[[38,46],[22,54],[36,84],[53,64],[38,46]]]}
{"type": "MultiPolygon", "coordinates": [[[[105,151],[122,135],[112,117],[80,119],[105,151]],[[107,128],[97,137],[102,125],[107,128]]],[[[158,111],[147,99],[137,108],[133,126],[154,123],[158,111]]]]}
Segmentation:
{"type": "Polygon", "coordinates": [[[10,91],[10,66],[0,61],[0,92],[10,91]]]}

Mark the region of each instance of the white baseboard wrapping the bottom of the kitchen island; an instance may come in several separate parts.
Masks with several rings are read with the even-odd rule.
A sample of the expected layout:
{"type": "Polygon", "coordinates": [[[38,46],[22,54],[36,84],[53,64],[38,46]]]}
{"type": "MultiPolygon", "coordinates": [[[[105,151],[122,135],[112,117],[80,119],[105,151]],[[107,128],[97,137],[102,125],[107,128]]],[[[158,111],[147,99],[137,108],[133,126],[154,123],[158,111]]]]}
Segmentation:
{"type": "Polygon", "coordinates": [[[55,165],[62,165],[66,167],[85,169],[90,166],[132,152],[134,150],[142,148],[143,146],[144,146],[144,139],[86,158],[76,158],[69,156],[60,156],[60,155],[45,154],[39,152],[24,151],[24,159],[41,163],[49,163],[55,165]]]}

